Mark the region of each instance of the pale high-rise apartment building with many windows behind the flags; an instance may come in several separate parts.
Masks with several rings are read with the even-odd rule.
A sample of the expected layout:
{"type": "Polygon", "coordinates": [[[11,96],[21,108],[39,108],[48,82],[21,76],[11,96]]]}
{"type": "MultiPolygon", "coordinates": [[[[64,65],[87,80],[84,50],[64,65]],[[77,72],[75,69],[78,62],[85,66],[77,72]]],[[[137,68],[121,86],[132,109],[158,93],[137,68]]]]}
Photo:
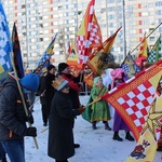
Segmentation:
{"type": "MultiPolygon", "coordinates": [[[[25,68],[37,67],[56,32],[58,35],[52,62],[56,66],[59,62],[66,62],[68,42],[75,39],[89,2],[90,0],[2,0],[11,31],[16,22],[25,68]]],[[[138,54],[138,44],[145,32],[146,36],[151,33],[148,37],[150,46],[162,32],[161,0],[95,0],[95,14],[103,41],[122,26],[111,51],[119,63],[130,51],[134,51],[133,55],[138,54]]]]}

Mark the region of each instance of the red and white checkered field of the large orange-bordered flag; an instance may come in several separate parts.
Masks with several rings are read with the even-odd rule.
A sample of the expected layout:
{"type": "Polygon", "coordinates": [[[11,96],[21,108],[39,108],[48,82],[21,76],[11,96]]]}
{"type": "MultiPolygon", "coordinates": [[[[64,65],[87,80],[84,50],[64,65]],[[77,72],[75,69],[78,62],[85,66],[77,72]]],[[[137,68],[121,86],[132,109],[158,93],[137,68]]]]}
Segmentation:
{"type": "Polygon", "coordinates": [[[117,99],[134,121],[139,132],[141,132],[147,119],[151,103],[154,99],[154,93],[156,89],[149,81],[146,81],[117,99]]]}

